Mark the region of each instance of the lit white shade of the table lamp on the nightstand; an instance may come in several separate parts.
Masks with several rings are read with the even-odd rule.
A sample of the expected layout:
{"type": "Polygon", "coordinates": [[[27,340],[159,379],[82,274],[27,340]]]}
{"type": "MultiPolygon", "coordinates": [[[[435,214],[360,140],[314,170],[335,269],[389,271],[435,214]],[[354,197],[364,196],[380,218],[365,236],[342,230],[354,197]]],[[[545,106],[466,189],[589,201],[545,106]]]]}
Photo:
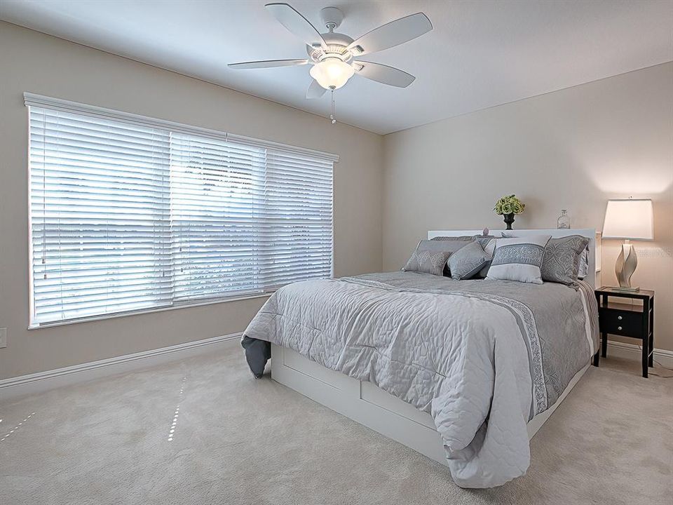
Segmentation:
{"type": "Polygon", "coordinates": [[[651,200],[608,200],[603,238],[654,240],[651,200]]]}

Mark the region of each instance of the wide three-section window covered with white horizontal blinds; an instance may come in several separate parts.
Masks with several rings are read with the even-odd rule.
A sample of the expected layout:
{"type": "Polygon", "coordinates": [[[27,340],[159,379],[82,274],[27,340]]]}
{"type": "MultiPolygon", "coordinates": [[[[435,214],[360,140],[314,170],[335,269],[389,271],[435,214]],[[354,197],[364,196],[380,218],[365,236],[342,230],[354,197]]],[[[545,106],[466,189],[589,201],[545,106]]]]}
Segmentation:
{"type": "Polygon", "coordinates": [[[337,157],[26,94],[32,325],[332,274],[337,157]]]}

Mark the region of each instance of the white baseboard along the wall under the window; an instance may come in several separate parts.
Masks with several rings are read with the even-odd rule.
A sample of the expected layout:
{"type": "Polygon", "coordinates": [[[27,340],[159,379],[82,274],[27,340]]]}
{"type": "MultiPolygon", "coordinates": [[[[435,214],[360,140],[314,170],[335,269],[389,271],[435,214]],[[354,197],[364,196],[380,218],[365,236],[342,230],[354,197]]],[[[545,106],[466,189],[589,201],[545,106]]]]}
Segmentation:
{"type": "Polygon", "coordinates": [[[126,354],[125,356],[116,356],[100,361],[90,361],[81,365],[3,379],[0,380],[0,401],[216,351],[224,344],[240,339],[240,336],[240,333],[231,333],[221,337],[195,340],[162,347],[161,349],[152,349],[151,351],[126,354]]]}

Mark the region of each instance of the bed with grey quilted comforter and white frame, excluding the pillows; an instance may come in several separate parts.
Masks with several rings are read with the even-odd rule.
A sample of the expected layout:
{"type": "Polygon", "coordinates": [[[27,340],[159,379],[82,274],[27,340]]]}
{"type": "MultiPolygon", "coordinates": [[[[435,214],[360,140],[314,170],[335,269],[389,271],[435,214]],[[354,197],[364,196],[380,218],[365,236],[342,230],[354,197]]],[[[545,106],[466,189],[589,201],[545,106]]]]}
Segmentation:
{"type": "Polygon", "coordinates": [[[448,466],[461,487],[502,485],[524,475],[529,439],[599,351],[595,231],[515,233],[587,237],[590,274],[575,288],[415,272],[295,283],[245,335],[271,342],[280,384],[448,466]]]}

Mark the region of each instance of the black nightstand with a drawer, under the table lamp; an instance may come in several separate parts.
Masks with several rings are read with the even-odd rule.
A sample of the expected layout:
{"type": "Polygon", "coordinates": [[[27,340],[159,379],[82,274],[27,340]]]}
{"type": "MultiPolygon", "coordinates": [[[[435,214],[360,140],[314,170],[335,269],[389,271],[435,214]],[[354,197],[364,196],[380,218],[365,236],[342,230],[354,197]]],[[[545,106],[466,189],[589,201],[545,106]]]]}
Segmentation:
{"type": "MultiPolygon", "coordinates": [[[[603,286],[596,290],[596,300],[602,339],[601,355],[604,358],[606,356],[608,333],[640,339],[643,347],[643,377],[647,377],[654,349],[654,291],[624,292],[603,286]],[[637,299],[643,304],[609,302],[608,297],[637,299]]],[[[598,365],[598,356],[594,358],[594,365],[598,365]]]]}

